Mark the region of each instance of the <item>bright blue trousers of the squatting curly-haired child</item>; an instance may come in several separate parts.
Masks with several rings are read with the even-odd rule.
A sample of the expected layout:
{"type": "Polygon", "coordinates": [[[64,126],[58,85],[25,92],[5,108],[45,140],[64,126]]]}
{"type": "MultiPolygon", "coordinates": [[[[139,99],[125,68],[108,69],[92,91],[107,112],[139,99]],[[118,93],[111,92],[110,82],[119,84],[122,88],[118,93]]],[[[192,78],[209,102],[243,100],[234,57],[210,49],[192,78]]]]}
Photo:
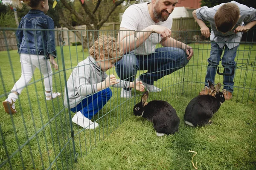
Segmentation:
{"type": "Polygon", "coordinates": [[[103,108],[111,96],[111,89],[106,88],[83,99],[78,105],[76,105],[76,107],[71,108],[70,110],[74,113],[80,111],[85,117],[92,119],[93,115],[98,113],[103,108]]]}

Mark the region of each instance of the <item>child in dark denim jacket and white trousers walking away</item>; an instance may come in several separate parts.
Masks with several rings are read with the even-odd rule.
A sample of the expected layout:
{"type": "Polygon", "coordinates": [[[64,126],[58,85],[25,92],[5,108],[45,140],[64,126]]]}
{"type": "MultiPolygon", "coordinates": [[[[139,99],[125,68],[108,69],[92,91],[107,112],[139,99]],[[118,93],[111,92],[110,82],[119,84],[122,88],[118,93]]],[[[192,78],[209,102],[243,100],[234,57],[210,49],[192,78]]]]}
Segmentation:
{"type": "Polygon", "coordinates": [[[3,102],[6,113],[14,114],[15,101],[23,88],[32,79],[35,68],[39,68],[44,75],[45,95],[47,100],[60,96],[60,93],[52,93],[52,63],[55,70],[58,64],[55,62],[55,36],[54,22],[46,15],[49,10],[48,0],[12,0],[13,5],[21,7],[21,1],[31,7],[31,10],[20,21],[16,31],[18,53],[20,54],[21,77],[15,83],[8,98],[3,102]],[[23,28],[23,29],[22,29],[23,28]],[[26,30],[27,29],[49,29],[26,30]]]}

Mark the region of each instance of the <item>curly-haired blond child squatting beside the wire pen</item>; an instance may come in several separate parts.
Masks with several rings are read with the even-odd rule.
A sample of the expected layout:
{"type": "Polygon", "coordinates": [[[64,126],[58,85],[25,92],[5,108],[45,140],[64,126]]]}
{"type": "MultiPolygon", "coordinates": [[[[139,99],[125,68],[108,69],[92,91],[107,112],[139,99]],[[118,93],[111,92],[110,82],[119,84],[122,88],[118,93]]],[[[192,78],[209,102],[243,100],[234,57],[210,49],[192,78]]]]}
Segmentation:
{"type": "Polygon", "coordinates": [[[108,36],[99,36],[90,48],[90,56],[79,62],[67,80],[68,96],[65,93],[64,105],[70,105],[75,116],[72,122],[86,129],[94,129],[98,123],[90,119],[99,112],[112,96],[111,85],[119,88],[135,88],[144,91],[142,82],[116,80],[105,71],[112,68],[122,56],[119,43],[108,36]],[[69,103],[68,103],[69,102],[69,103]]]}

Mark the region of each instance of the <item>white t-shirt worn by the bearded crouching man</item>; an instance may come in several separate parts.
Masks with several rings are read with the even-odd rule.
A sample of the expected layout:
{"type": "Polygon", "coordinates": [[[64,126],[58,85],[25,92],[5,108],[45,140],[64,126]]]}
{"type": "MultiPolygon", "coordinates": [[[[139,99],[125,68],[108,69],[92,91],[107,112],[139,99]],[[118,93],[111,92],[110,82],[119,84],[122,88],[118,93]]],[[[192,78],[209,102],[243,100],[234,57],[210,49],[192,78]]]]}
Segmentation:
{"type": "MultiPolygon", "coordinates": [[[[122,22],[120,27],[127,28],[129,30],[141,31],[144,28],[151,25],[165,26],[169,29],[172,29],[172,17],[169,16],[168,19],[164,22],[160,21],[155,23],[150,17],[148,11],[148,3],[141,3],[129,6],[122,17],[122,22]]],[[[127,32],[128,34],[128,32],[127,32]]],[[[143,34],[143,31],[139,32],[139,34],[143,34]]],[[[145,34],[145,32],[144,32],[145,34]]],[[[137,37],[138,34],[137,34],[137,37]]],[[[162,40],[160,34],[152,33],[147,40],[143,42],[136,51],[136,54],[145,55],[151,54],[155,51],[156,45],[162,40]]]]}

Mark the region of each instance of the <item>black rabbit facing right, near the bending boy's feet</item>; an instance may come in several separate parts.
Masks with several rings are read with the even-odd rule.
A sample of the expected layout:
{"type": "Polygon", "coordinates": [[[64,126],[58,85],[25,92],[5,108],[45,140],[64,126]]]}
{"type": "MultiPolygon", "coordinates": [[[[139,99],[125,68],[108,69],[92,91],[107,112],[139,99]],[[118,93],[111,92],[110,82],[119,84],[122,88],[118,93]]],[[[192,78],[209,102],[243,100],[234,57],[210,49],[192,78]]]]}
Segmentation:
{"type": "Polygon", "coordinates": [[[208,80],[211,92],[208,95],[196,96],[186,107],[184,120],[189,126],[202,126],[212,123],[210,120],[215,112],[225,102],[225,97],[220,92],[221,83],[214,85],[208,80]]]}

